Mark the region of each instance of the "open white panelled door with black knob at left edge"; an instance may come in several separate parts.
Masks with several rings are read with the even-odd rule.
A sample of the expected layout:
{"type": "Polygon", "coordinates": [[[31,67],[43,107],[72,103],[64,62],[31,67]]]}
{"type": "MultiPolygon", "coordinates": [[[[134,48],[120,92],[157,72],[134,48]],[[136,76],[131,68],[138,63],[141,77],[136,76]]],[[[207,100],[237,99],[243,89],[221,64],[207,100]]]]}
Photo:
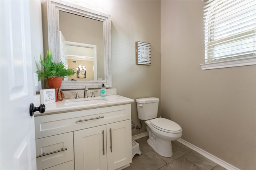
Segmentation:
{"type": "Polygon", "coordinates": [[[0,1],[0,169],[35,170],[29,1],[0,1]]]}

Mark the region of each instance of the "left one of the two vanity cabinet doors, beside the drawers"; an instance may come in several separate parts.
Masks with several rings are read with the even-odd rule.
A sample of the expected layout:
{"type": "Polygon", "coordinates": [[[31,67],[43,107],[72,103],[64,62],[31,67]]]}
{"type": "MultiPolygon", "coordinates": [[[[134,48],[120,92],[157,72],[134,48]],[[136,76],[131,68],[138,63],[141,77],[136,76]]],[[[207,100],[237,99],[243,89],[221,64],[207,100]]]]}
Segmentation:
{"type": "Polygon", "coordinates": [[[106,125],[74,131],[76,170],[106,170],[106,125]]]}

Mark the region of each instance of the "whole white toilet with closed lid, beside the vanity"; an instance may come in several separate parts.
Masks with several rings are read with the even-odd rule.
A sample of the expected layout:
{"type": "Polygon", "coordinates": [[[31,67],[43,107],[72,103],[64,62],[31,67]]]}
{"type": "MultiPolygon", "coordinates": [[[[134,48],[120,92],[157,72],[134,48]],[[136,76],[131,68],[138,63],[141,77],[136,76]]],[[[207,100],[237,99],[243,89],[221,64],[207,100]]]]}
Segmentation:
{"type": "Polygon", "coordinates": [[[182,136],[182,128],[180,125],[165,119],[157,117],[158,98],[141,98],[136,99],[138,118],[144,120],[148,131],[148,145],[152,147],[158,154],[171,157],[172,143],[182,136]]]}

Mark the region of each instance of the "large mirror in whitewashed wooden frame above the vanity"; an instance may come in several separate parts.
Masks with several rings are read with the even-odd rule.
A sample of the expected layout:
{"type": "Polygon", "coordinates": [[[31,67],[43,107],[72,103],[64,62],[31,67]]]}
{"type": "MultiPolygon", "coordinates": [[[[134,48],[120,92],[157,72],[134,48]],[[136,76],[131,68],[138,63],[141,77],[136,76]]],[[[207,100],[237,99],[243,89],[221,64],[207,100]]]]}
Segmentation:
{"type": "Polygon", "coordinates": [[[62,81],[61,89],[100,88],[102,83],[112,87],[110,15],[48,0],[47,20],[48,46],[55,60],[77,71],[62,81]]]}

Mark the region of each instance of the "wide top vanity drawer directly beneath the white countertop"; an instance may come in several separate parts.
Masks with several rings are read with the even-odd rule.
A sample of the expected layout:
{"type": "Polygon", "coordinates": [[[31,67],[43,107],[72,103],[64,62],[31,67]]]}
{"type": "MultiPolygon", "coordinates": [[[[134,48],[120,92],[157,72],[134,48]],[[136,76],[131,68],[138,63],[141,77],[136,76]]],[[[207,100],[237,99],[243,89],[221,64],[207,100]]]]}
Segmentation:
{"type": "Polygon", "coordinates": [[[130,104],[36,116],[36,139],[127,119],[131,119],[130,104]]]}

